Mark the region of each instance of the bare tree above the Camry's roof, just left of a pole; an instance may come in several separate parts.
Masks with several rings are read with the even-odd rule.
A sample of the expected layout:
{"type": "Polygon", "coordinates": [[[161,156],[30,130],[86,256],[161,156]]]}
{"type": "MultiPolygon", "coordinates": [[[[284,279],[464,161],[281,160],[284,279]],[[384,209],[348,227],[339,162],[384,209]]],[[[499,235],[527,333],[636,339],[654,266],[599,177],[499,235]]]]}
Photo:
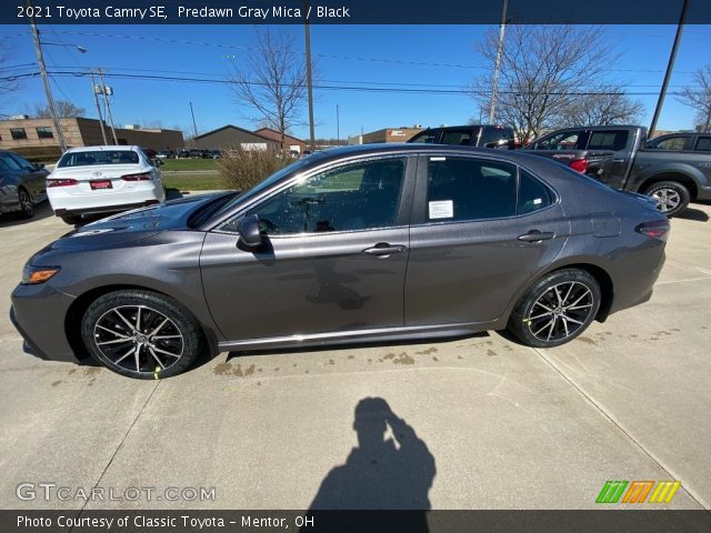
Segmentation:
{"type": "Polygon", "coordinates": [[[284,135],[296,125],[306,99],[306,64],[293,37],[284,30],[257,30],[257,50],[248,52],[243,66],[228,77],[238,104],[253,108],[254,122],[284,135]]]}

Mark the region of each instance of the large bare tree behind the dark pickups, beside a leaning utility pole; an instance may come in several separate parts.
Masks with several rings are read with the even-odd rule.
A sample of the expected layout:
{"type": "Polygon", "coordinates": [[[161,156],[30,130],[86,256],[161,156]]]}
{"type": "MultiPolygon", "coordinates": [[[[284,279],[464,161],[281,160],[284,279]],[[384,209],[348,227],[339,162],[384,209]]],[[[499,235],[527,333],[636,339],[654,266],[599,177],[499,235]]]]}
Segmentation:
{"type": "MultiPolygon", "coordinates": [[[[488,105],[491,99],[497,50],[498,32],[492,31],[479,47],[485,71],[472,86],[480,105],[488,105]]],[[[614,59],[598,28],[508,27],[497,122],[511,125],[520,141],[528,142],[570,120],[611,122],[634,118],[641,104],[630,102],[618,87],[604,81],[614,59]],[[591,105],[593,109],[589,110],[591,105]]]]}

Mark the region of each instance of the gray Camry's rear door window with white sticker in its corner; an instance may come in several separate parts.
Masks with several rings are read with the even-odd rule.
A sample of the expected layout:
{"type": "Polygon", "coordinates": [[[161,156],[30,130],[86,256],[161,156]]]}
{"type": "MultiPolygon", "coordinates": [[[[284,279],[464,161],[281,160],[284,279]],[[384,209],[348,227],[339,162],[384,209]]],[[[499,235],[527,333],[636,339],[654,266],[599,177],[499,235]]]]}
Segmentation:
{"type": "Polygon", "coordinates": [[[430,158],[428,220],[464,221],[515,214],[515,167],[471,158],[430,158]]]}

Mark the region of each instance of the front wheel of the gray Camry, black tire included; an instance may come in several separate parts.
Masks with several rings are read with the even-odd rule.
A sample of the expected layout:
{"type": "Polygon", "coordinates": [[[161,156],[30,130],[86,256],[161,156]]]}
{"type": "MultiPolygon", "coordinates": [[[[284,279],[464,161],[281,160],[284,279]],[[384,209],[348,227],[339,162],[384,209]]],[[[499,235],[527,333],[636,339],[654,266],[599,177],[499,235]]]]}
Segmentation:
{"type": "Polygon", "coordinates": [[[202,345],[200,326],[190,311],[144,290],[116,291],[94,300],[82,318],[81,336],[99,363],[140,380],[180,374],[202,345]]]}

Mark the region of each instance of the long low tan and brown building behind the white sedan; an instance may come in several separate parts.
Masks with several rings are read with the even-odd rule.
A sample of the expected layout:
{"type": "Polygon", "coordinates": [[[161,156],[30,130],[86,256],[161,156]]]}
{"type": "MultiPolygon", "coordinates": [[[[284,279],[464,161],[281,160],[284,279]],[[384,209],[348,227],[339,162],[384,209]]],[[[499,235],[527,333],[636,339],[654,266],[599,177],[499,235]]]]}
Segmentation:
{"type": "MultiPolygon", "coordinates": [[[[64,142],[69,148],[103,144],[101,125],[98,120],[72,118],[59,119],[64,142]]],[[[107,140],[113,144],[111,128],[104,124],[107,140]]],[[[119,144],[139,145],[152,150],[178,150],[186,145],[182,131],[159,129],[117,128],[119,144]]],[[[0,120],[0,149],[12,150],[30,159],[57,159],[60,155],[59,141],[54,134],[52,119],[0,120]]]]}

